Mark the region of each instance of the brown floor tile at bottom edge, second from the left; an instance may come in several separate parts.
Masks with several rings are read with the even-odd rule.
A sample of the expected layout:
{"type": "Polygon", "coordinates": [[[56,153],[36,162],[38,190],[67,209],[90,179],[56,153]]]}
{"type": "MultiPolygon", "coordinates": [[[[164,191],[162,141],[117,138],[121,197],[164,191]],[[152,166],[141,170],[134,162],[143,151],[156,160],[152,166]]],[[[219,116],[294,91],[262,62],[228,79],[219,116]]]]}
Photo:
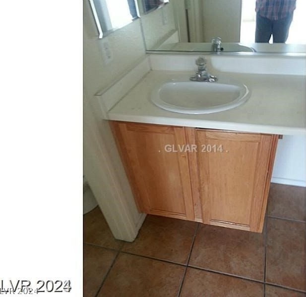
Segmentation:
{"type": "Polygon", "coordinates": [[[176,297],[184,267],[121,253],[99,297],[176,297]]]}

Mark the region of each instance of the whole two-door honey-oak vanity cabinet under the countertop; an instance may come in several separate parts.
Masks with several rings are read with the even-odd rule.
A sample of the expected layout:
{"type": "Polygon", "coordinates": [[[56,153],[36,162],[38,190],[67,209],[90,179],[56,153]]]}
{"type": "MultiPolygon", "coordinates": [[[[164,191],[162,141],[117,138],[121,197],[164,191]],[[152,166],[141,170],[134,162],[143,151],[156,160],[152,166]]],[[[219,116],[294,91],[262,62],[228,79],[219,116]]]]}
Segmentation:
{"type": "Polygon", "coordinates": [[[111,126],[140,212],[262,232],[277,135],[111,126]]]}

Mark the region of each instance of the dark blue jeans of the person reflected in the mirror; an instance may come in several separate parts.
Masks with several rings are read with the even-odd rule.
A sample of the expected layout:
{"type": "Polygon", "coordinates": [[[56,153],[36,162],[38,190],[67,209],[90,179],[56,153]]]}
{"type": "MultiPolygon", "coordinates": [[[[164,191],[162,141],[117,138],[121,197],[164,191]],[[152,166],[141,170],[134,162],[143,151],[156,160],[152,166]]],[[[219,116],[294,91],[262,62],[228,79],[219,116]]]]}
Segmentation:
{"type": "Polygon", "coordinates": [[[273,43],[285,43],[292,19],[293,12],[279,20],[270,20],[256,13],[255,42],[269,42],[272,35],[273,43]]]}

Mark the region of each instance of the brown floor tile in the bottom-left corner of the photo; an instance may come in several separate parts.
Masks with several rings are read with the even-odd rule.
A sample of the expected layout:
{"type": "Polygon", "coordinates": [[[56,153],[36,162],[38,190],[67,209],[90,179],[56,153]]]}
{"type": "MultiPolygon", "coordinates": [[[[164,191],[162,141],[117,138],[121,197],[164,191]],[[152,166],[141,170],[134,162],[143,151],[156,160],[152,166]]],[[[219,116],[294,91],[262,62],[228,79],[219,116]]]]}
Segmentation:
{"type": "Polygon", "coordinates": [[[84,245],[84,297],[94,297],[111,267],[117,251],[84,245]]]}

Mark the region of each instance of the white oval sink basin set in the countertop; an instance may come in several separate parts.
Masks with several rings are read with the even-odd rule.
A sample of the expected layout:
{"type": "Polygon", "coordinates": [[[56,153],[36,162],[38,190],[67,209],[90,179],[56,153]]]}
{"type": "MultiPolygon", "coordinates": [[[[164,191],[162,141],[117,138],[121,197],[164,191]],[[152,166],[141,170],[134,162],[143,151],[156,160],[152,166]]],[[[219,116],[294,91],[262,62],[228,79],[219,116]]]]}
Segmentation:
{"type": "Polygon", "coordinates": [[[235,108],[249,98],[248,88],[239,83],[166,82],[151,93],[152,102],[169,111],[187,114],[205,114],[235,108]]]}

